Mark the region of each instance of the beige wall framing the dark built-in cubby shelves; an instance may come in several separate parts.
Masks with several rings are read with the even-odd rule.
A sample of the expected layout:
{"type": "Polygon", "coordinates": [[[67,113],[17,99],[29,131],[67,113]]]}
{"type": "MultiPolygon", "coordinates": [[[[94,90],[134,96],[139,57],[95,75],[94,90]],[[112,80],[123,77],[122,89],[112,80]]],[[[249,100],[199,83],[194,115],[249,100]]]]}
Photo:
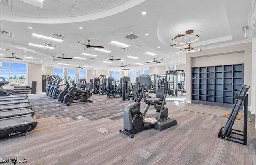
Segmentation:
{"type": "MultiPolygon", "coordinates": [[[[244,63],[244,84],[252,83],[252,43],[242,43],[206,49],[186,55],[186,102],[191,102],[191,67],[244,63]]],[[[248,91],[248,109],[251,110],[251,88],[248,91]]]]}

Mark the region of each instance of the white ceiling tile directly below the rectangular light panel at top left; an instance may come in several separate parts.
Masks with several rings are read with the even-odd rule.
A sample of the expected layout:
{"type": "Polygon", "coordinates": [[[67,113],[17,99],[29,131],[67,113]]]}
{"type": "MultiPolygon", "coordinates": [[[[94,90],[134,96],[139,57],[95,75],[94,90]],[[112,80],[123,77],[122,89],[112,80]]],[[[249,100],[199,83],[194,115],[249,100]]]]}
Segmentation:
{"type": "MultiPolygon", "coordinates": [[[[28,4],[28,3],[23,2],[21,0],[13,0],[12,1],[12,9],[17,9],[19,11],[23,11],[25,13],[30,14],[30,15],[26,14],[26,15],[21,15],[21,16],[34,16],[34,17],[38,17],[39,12],[41,10],[41,8],[39,8],[38,6],[28,4]]],[[[19,14],[19,12],[16,12],[16,14],[14,14],[14,15],[19,16],[18,14],[19,14]]],[[[21,14],[21,12],[20,12],[20,14],[21,14]]]]}

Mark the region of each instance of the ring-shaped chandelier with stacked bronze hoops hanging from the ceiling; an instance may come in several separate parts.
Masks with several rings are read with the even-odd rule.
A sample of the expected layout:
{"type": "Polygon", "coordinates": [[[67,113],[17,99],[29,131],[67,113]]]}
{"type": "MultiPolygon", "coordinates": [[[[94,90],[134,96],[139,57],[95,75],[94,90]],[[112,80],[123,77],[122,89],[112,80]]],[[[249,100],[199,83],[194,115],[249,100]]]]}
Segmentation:
{"type": "Polygon", "coordinates": [[[172,47],[182,48],[179,50],[180,53],[196,52],[201,49],[191,47],[191,43],[197,41],[200,37],[199,35],[192,34],[194,30],[186,31],[186,34],[178,34],[174,39],[172,39],[172,47]]]}

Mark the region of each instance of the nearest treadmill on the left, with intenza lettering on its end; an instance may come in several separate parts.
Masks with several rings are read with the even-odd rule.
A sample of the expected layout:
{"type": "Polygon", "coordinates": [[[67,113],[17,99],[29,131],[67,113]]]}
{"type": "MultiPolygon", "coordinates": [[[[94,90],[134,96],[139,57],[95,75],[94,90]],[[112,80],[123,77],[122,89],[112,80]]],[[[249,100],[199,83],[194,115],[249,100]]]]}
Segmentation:
{"type": "Polygon", "coordinates": [[[0,139],[30,132],[36,128],[37,122],[31,114],[0,119],[0,139]]]}

